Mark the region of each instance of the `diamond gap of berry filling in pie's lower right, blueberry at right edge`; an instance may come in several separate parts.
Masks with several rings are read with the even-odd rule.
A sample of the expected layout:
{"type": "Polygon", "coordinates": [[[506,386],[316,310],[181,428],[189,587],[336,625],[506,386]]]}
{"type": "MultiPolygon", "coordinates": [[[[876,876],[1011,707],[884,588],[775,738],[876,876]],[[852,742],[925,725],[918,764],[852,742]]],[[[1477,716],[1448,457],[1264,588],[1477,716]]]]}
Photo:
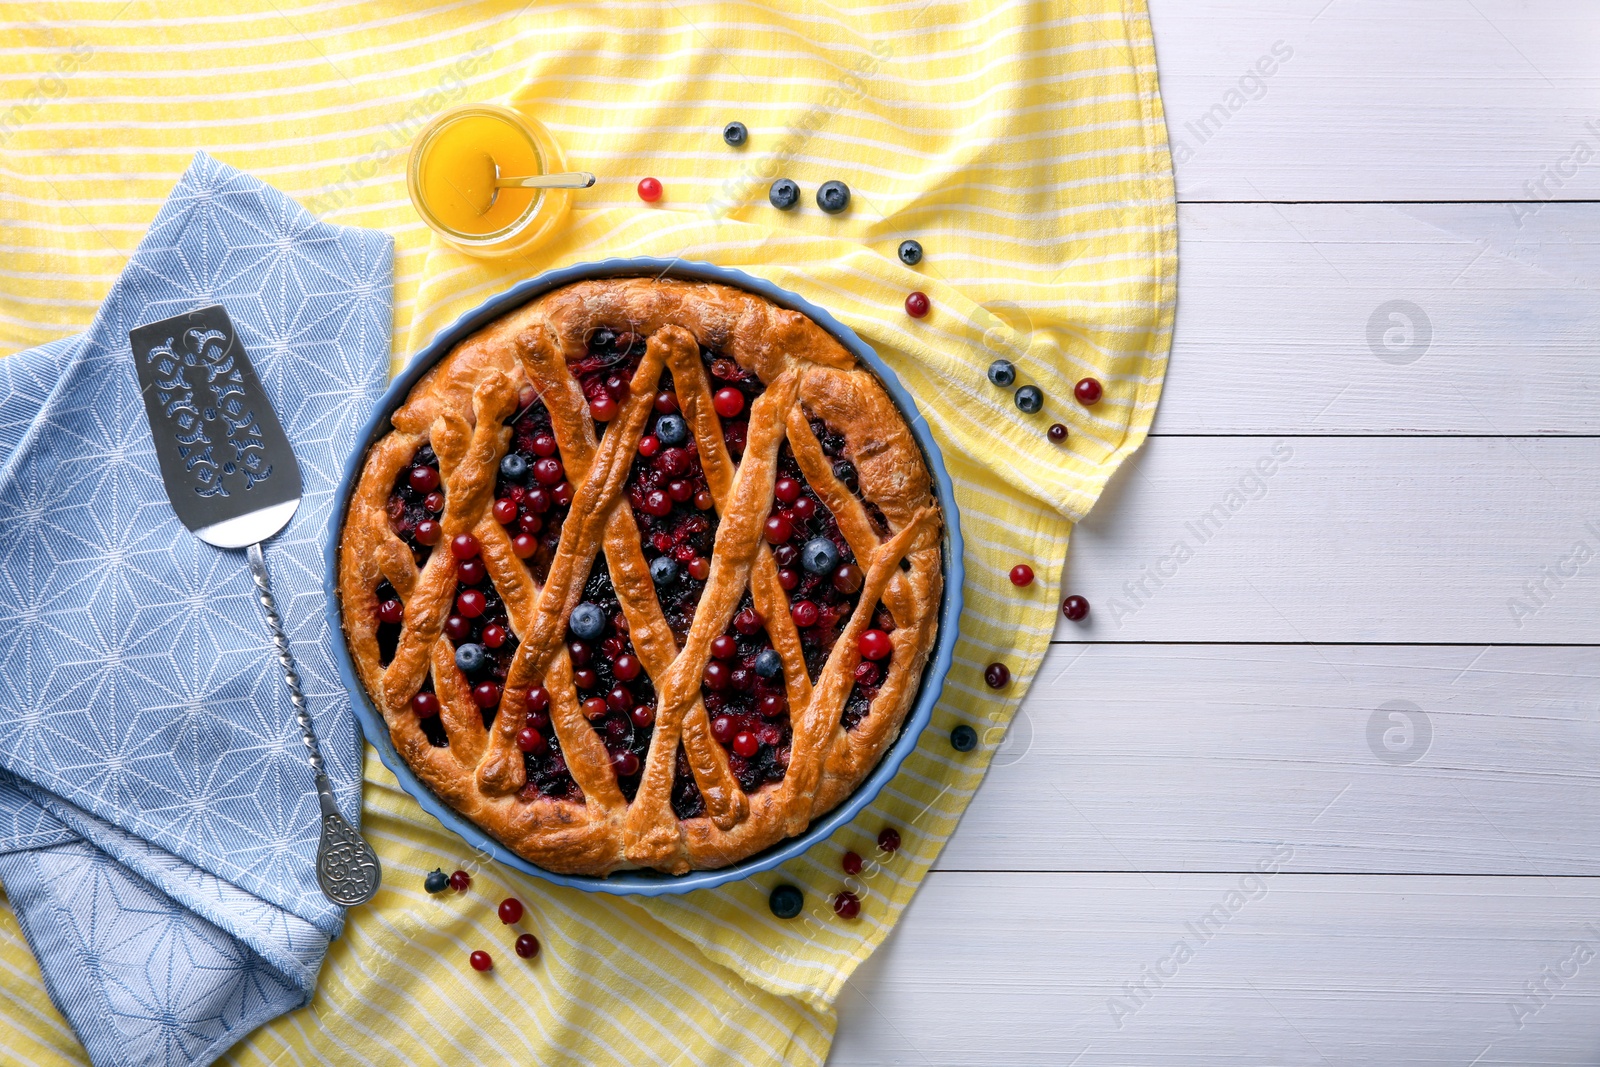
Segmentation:
{"type": "Polygon", "coordinates": [[[728,632],[710,645],[701,694],[710,733],[728,750],[739,787],[752,793],[789,769],[789,701],[782,659],[746,593],[728,632]]]}

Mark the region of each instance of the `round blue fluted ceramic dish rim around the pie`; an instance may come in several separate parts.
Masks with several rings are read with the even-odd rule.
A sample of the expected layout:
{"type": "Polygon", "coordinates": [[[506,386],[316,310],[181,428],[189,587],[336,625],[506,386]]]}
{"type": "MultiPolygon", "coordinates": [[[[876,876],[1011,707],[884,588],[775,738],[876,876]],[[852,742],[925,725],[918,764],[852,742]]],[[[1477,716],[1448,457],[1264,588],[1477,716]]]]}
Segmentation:
{"type": "MultiPolygon", "coordinates": [[[[525,870],[530,875],[538,875],[547,881],[573,886],[576,889],[587,889],[590,893],[635,893],[642,896],[659,896],[662,893],[709,889],[726,881],[747,878],[754,873],[778,867],[784,861],[805,853],[818,841],[826,840],[840,825],[856,817],[862,808],[872,803],[872,800],[878,795],[878,790],[882,790],[883,785],[894,777],[901,763],[904,763],[906,757],[910,755],[910,750],[917,747],[917,739],[922,736],[923,728],[926,728],[928,720],[933,717],[933,705],[939,699],[939,693],[944,688],[944,677],[950,670],[950,657],[954,654],[955,635],[962,617],[962,530],[960,517],[955,510],[955,498],[950,491],[950,475],[944,469],[944,459],[939,454],[939,446],[933,440],[933,434],[928,430],[926,421],[918,413],[917,402],[912,400],[910,394],[906,392],[906,387],[901,386],[894,373],[883,363],[882,358],[878,358],[878,354],[874,352],[870,346],[867,346],[854,334],[854,331],[835,320],[826,310],[803,301],[787,290],[781,290],[770,282],[763,282],[739,270],[683,259],[605,259],[600,262],[549,270],[536,278],[514,285],[499,296],[486,299],[483,304],[478,304],[445,330],[440,330],[434,334],[434,339],[427,344],[427,347],[413,357],[410,366],[406,366],[406,370],[389,384],[389,390],[373,410],[373,414],[366,421],[366,426],[358,438],[358,446],[344,464],[344,475],[339,482],[339,494],[334,502],[333,514],[342,517],[349,510],[350,494],[355,491],[357,480],[360,478],[362,464],[366,461],[366,451],[378,438],[389,432],[390,413],[405,402],[406,395],[422,374],[450,354],[450,350],[461,341],[490,325],[501,315],[522,307],[528,301],[533,301],[550,290],[571,285],[573,282],[582,282],[586,278],[630,275],[664,275],[694,282],[717,282],[749,290],[750,293],[757,293],[781,307],[802,312],[832,334],[840,344],[850,349],[866,366],[872,368],[872,371],[883,382],[890,397],[893,397],[896,406],[901,410],[901,414],[906,416],[907,426],[910,426],[917,443],[922,446],[923,458],[928,462],[928,472],[933,475],[933,488],[939,499],[939,507],[944,512],[944,597],[939,605],[939,635],[933,648],[933,654],[928,657],[928,667],[923,672],[922,688],[917,691],[917,701],[912,704],[912,709],[906,717],[899,737],[883,753],[877,768],[874,768],[866,781],[861,782],[856,792],[846,797],[842,805],[811,822],[805,833],[778,841],[771,848],[755,853],[754,856],[747,856],[738,864],[720,867],[717,870],[691,870],[685,875],[667,875],[656,870],[619,870],[605,878],[589,875],[562,875],[546,870],[510,851],[482,830],[477,824],[456,813],[450,805],[435,797],[434,792],[416,777],[411,766],[400,758],[400,753],[395,752],[394,742],[389,739],[389,726],[368,699],[365,686],[357,678],[355,664],[350,659],[349,648],[344,643],[344,621],[341,617],[338,589],[338,533],[328,539],[328,545],[323,552],[323,589],[326,593],[325,611],[328,630],[333,635],[334,643],[334,659],[339,664],[339,673],[344,678],[344,685],[352,694],[352,705],[355,707],[355,717],[362,723],[362,731],[366,734],[366,741],[378,749],[378,757],[384,761],[384,766],[394,771],[395,777],[400,779],[400,787],[411,793],[411,797],[414,797],[427,813],[454,830],[467,845],[474,846],[482,854],[486,854],[509,867],[515,867],[517,870],[525,870]]],[[[342,531],[342,522],[336,530],[342,531]]]]}

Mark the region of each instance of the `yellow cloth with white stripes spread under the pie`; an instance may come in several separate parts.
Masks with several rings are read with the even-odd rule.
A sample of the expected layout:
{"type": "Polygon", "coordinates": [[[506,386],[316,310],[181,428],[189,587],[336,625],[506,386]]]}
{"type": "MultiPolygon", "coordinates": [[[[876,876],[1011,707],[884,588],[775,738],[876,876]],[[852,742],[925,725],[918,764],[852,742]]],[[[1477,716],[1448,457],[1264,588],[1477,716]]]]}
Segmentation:
{"type": "MultiPolygon", "coordinates": [[[[349,917],[315,1001],[227,1054],[240,1064],[821,1064],[832,1003],[888,934],[955,829],[1054,625],[1074,520],[1142,442],[1155,411],[1176,226],[1142,0],[888,0],[834,6],[453,0],[176,0],[3,8],[0,350],[82,330],[166,190],[205,149],[322,218],[397,242],[395,358],[461,310],[546,267],[683,256],[738,267],[830,309],[917,395],[944,446],[966,536],[966,614],[930,731],[853,825],[782,870],[635,902],[554,889],[493,864],[426,816],[368,750],[366,829],[386,885],[349,917]],[[557,243],[486,264],[429,240],[405,149],[440,109],[514,99],[602,174],[557,243]],[[750,130],[728,149],[722,126],[750,130]],[[659,205],[638,178],[666,187],[659,205]],[[779,214],[766,186],[806,190],[779,214]],[[850,184],[848,213],[810,195],[850,184]],[[922,266],[896,245],[915,237],[922,266]],[[933,301],[902,310],[910,290],[933,301]],[[997,355],[1045,411],[984,381],[997,355]],[[1094,376],[1106,398],[1072,402],[1094,376]],[[1050,422],[1070,437],[1053,445],[1050,422]],[[1027,561],[1027,589],[1006,571],[1027,561]],[[990,661],[1014,681],[982,683],[990,661]],[[978,726],[973,753],[949,744],[978,726]],[[885,825],[904,846],[875,849],[885,825]],[[846,878],[846,849],[869,857],[846,878]],[[429,897],[422,875],[474,872],[429,897]],[[806,891],[789,923],[779,881],[806,891]],[[829,897],[853,888],[856,921],[829,897]],[[528,905],[525,965],[493,904],[528,905]],[[496,969],[466,966],[490,949],[496,969]]],[[[22,1062],[83,1053],[0,910],[0,1048],[22,1062]]]]}

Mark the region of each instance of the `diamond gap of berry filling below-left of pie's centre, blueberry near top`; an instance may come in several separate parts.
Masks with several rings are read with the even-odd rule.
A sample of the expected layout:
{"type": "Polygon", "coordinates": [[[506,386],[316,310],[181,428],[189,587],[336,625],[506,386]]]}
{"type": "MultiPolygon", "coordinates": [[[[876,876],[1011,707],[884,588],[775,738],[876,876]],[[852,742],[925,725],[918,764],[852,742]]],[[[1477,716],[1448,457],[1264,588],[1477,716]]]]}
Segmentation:
{"type": "Polygon", "coordinates": [[[578,701],[611,755],[618,789],[632,801],[654,733],[656,686],[627,637],[627,616],[611,587],[605,555],[589,571],[568,630],[578,701]]]}

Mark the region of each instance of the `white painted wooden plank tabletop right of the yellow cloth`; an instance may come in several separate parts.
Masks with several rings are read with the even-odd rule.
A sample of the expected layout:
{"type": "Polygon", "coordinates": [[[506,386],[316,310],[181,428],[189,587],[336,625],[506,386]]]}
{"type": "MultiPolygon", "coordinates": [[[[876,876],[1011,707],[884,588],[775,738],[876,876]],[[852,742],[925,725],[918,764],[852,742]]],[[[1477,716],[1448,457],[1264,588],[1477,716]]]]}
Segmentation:
{"type": "Polygon", "coordinates": [[[1600,1062],[1600,3],[1150,8],[1155,434],[832,1062],[1600,1062]]]}

